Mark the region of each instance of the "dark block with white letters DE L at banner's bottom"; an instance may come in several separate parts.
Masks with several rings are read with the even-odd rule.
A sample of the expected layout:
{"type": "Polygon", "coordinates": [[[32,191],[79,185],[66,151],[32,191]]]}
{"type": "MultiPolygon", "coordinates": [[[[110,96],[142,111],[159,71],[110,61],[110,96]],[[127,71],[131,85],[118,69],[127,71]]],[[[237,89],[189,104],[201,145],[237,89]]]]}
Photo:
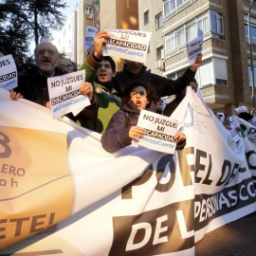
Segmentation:
{"type": "Polygon", "coordinates": [[[193,200],[138,215],[113,217],[114,239],[109,255],[158,255],[192,248],[192,206],[193,200]],[[180,222],[185,225],[186,231],[180,227],[180,222]]]}

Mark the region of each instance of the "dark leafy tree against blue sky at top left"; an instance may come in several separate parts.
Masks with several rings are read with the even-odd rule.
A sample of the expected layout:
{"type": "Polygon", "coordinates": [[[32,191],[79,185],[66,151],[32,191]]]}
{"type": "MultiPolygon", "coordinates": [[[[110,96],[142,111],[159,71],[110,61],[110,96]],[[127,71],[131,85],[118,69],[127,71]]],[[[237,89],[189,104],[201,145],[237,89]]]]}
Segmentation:
{"type": "Polygon", "coordinates": [[[37,45],[49,40],[51,30],[64,25],[66,8],[63,0],[0,0],[0,47],[12,54],[18,70],[22,70],[31,57],[27,56],[32,40],[37,45]]]}

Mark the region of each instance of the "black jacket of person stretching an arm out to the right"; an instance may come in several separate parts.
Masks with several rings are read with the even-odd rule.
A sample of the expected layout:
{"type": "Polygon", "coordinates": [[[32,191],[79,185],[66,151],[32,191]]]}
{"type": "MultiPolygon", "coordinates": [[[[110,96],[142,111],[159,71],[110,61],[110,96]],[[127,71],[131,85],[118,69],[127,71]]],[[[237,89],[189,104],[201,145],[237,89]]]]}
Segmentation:
{"type": "Polygon", "coordinates": [[[146,71],[146,66],[143,65],[140,74],[134,77],[128,70],[126,65],[122,71],[118,72],[114,78],[117,86],[117,91],[120,97],[123,97],[123,90],[134,80],[141,80],[148,84],[149,93],[153,101],[158,101],[163,96],[180,94],[182,90],[192,81],[195,72],[187,68],[184,74],[177,80],[164,78],[156,74],[146,71]]]}

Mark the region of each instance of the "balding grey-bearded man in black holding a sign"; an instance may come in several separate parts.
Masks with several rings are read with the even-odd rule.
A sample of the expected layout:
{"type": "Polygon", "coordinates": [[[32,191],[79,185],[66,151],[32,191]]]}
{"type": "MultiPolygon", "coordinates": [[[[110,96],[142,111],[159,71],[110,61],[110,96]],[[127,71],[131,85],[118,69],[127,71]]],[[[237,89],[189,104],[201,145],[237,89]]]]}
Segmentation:
{"type": "MultiPolygon", "coordinates": [[[[64,75],[64,72],[57,66],[58,50],[56,46],[46,41],[35,47],[34,56],[35,65],[18,74],[18,87],[10,91],[10,98],[12,100],[24,98],[50,109],[47,78],[64,75]]],[[[82,95],[88,96],[91,104],[85,107],[76,117],[72,113],[67,114],[67,117],[81,121],[95,119],[98,113],[98,104],[93,97],[91,83],[83,82],[80,92],[82,95]]]]}

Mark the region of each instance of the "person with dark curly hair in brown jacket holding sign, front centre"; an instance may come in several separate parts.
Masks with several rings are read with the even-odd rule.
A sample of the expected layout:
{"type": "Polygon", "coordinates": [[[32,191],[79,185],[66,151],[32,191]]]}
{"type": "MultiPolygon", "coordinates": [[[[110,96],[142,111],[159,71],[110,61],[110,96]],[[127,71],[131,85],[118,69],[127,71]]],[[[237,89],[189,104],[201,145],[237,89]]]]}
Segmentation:
{"type": "MultiPolygon", "coordinates": [[[[137,126],[141,109],[150,106],[151,98],[148,86],[137,80],[131,82],[124,91],[122,108],[110,120],[106,132],[101,137],[102,147],[109,153],[114,153],[131,144],[133,138],[143,137],[145,130],[137,126]]],[[[177,131],[177,148],[183,149],[186,136],[177,131]]]]}

